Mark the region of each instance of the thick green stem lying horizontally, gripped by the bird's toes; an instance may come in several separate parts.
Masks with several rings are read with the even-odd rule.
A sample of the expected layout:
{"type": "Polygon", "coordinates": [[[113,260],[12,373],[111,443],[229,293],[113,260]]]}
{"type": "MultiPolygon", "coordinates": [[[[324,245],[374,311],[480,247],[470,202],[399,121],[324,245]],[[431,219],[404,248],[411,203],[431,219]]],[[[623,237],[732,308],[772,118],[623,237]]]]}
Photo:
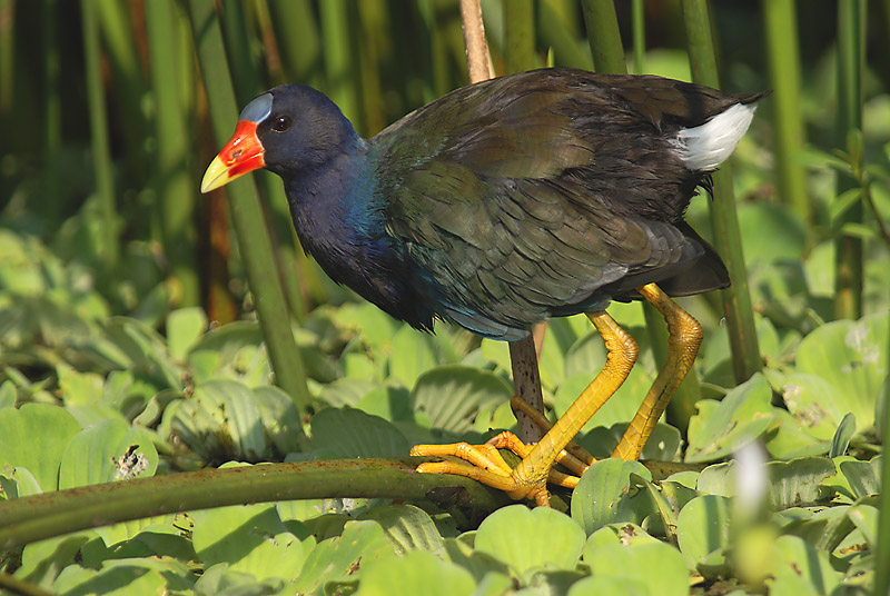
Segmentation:
{"type": "Polygon", "coordinates": [[[0,508],[0,550],[129,519],[245,503],[336,497],[423,499],[434,488],[455,487],[461,489],[452,491],[455,505],[492,510],[506,503],[503,493],[468,478],[417,474],[415,468],[426,460],[405,457],[263,464],[12,499],[0,508]]]}

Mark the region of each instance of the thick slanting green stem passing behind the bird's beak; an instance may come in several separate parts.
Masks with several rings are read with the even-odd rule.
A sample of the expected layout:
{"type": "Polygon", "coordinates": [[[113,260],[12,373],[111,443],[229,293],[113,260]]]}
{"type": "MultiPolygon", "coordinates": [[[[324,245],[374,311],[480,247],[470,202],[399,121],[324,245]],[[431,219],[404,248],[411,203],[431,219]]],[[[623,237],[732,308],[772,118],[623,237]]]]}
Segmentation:
{"type": "MultiPolygon", "coordinates": [[[[189,10],[214,136],[217,146],[222,147],[238,115],[222,34],[212,0],[190,0],[189,10]]],[[[290,317],[256,185],[253,177],[245,177],[229,185],[227,190],[231,221],[269,349],[276,385],[290,395],[300,415],[305,415],[310,399],[306,374],[290,330],[290,317]]]]}

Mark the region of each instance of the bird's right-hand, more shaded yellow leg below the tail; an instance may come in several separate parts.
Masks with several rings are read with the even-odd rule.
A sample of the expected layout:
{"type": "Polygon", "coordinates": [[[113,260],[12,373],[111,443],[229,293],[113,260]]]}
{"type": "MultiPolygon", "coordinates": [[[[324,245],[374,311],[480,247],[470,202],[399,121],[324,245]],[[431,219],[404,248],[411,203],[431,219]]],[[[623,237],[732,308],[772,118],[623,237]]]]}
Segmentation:
{"type": "Polygon", "coordinates": [[[654,306],[668,322],[668,359],[659,376],[646,393],[643,405],[636,411],[627,430],[619,441],[612,457],[639,459],[643,446],[664,414],[676,388],[683,381],[702,342],[702,327],[692,315],[680,308],[655,284],[649,284],[637,291],[654,306]]]}

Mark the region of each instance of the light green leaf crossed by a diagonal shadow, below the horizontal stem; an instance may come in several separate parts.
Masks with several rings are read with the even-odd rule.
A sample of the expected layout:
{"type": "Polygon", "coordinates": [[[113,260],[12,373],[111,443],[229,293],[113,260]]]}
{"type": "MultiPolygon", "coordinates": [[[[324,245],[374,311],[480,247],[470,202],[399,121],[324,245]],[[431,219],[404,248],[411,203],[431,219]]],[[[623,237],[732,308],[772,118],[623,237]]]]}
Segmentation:
{"type": "Polygon", "coordinates": [[[281,523],[273,505],[219,507],[190,516],[195,552],[208,567],[226,563],[260,580],[275,577],[288,582],[303,569],[307,545],[281,523]]]}

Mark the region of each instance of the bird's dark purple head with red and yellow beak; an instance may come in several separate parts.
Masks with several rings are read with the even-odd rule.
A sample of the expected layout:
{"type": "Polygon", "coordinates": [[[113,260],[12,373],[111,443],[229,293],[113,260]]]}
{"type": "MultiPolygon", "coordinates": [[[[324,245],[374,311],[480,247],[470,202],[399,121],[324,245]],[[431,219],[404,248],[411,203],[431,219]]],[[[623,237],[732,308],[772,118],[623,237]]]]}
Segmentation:
{"type": "Polygon", "coordinates": [[[259,168],[299,176],[346,152],[358,139],[323,93],[305,85],[276,87],[241,111],[235,135],[204,175],[201,192],[259,168]]]}

